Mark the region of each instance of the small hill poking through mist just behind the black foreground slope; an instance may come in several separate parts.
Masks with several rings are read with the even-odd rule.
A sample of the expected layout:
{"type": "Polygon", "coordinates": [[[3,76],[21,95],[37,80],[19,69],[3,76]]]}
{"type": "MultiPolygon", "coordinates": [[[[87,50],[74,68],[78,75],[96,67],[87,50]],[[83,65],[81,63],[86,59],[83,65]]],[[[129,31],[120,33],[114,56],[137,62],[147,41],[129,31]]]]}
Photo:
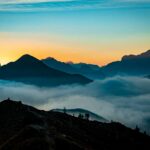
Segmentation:
{"type": "MultiPolygon", "coordinates": [[[[64,109],[53,109],[52,111],[56,111],[56,112],[64,112],[64,109]]],[[[99,116],[98,114],[95,114],[89,110],[85,110],[82,108],[75,108],[75,109],[66,109],[65,110],[67,114],[78,117],[79,114],[81,115],[85,115],[85,114],[89,114],[90,120],[96,120],[96,121],[100,121],[100,122],[108,122],[107,119],[103,118],[102,116],[99,116]]]]}

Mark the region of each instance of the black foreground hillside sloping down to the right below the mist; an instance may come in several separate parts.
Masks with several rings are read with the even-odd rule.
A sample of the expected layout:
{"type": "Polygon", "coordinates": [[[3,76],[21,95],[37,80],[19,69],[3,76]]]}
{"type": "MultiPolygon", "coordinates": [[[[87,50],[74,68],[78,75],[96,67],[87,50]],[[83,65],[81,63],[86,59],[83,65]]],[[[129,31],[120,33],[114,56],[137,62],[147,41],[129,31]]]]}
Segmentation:
{"type": "Polygon", "coordinates": [[[88,121],[5,100],[0,150],[149,150],[150,137],[120,123],[88,121]]]}

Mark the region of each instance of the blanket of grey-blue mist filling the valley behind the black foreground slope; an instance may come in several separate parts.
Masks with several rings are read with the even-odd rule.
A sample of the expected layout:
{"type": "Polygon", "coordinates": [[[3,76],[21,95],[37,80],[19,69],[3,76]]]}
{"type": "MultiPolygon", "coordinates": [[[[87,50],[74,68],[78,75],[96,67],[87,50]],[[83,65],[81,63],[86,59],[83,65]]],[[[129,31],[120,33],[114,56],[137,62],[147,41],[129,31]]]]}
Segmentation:
{"type": "Polygon", "coordinates": [[[55,88],[0,80],[0,100],[8,97],[44,110],[84,108],[150,132],[150,80],[146,78],[116,76],[85,86],[55,88]]]}

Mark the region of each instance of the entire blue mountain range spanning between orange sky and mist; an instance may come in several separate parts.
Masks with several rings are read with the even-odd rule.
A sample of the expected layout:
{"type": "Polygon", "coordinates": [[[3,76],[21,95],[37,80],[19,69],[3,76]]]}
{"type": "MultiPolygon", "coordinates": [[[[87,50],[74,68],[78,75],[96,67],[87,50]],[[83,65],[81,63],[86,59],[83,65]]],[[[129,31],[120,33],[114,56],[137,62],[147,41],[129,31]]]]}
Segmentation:
{"type": "Polygon", "coordinates": [[[139,55],[123,56],[121,61],[99,67],[86,63],[64,63],[54,58],[38,60],[23,55],[15,62],[0,67],[0,79],[38,86],[87,84],[115,75],[150,75],[150,50],[139,55]]]}

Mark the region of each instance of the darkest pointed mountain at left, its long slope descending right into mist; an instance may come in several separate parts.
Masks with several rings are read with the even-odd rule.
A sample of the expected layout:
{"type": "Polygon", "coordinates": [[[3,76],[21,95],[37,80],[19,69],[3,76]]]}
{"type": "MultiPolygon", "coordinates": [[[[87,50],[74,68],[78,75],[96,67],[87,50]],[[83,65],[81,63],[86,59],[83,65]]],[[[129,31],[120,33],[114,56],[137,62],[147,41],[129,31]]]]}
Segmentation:
{"type": "Polygon", "coordinates": [[[23,55],[15,62],[0,67],[0,79],[23,82],[38,86],[57,86],[64,84],[87,84],[92,80],[50,68],[30,55],[23,55]]]}

